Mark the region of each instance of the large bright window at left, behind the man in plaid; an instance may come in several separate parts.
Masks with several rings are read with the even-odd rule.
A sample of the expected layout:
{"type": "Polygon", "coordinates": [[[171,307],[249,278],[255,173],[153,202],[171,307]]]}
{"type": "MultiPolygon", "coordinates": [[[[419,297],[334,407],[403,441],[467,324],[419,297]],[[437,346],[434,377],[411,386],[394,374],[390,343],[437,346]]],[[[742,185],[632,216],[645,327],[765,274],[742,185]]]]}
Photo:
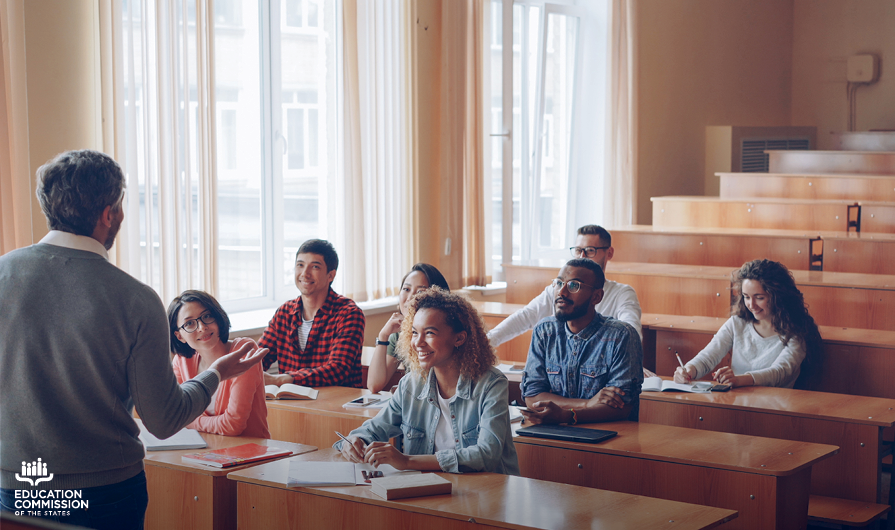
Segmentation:
{"type": "MultiPolygon", "coordinates": [[[[126,134],[138,161],[132,167],[139,168],[134,172],[141,278],[163,296],[172,292],[167,277],[188,287],[199,283],[200,233],[210,224],[200,218],[201,205],[209,201],[200,200],[198,153],[207,125],[197,88],[199,72],[210,69],[196,64],[202,57],[195,50],[202,42],[196,37],[196,5],[128,0],[122,9],[126,134]],[[174,23],[165,26],[169,20],[174,23]],[[153,53],[164,46],[164,53],[153,53]],[[179,63],[169,67],[165,61],[179,63]],[[158,90],[162,82],[173,90],[158,90]],[[144,98],[153,98],[153,112],[160,109],[149,118],[142,112],[144,98]],[[156,134],[171,122],[175,134],[156,134]],[[171,156],[182,160],[170,164],[183,168],[175,184],[155,162],[171,156]],[[169,201],[173,209],[165,206],[171,194],[183,197],[169,201]],[[183,244],[168,243],[172,230],[186,233],[178,236],[183,244]],[[172,252],[187,256],[177,260],[183,270],[174,275],[172,252]]],[[[214,23],[218,294],[229,310],[269,307],[297,295],[292,270],[298,246],[330,235],[326,204],[337,160],[338,2],[213,0],[208,6],[214,23]]]]}

